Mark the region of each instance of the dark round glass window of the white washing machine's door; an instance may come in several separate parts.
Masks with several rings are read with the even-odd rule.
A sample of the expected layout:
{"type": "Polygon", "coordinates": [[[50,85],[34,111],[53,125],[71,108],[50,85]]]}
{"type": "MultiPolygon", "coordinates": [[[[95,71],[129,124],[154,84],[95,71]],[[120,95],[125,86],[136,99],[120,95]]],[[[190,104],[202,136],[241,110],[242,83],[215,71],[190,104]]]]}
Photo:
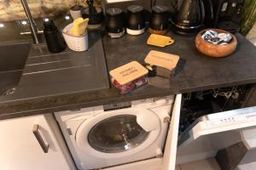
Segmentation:
{"type": "Polygon", "coordinates": [[[134,115],[120,115],[98,122],[88,134],[90,146],[105,153],[136,148],[149,134],[137,124],[136,118],[134,115]]]}

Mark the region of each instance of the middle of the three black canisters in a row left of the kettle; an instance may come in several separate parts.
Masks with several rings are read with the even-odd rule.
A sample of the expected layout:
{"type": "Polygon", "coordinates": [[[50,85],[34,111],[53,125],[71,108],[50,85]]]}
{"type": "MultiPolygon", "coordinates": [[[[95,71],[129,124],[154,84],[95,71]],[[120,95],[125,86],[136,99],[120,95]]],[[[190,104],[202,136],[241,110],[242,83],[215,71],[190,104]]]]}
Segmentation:
{"type": "Polygon", "coordinates": [[[140,35],[145,31],[145,19],[143,16],[143,7],[140,5],[131,5],[127,8],[127,34],[140,35]]]}

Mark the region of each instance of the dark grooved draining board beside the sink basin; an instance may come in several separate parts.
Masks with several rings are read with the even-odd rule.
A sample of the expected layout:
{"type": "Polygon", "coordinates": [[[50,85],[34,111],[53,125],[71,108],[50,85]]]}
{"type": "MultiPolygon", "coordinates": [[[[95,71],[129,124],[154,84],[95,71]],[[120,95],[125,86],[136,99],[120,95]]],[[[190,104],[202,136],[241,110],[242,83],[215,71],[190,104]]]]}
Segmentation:
{"type": "Polygon", "coordinates": [[[89,39],[90,48],[85,52],[66,48],[52,54],[44,43],[32,45],[15,94],[0,97],[0,102],[108,89],[101,34],[91,33],[89,39]]]}

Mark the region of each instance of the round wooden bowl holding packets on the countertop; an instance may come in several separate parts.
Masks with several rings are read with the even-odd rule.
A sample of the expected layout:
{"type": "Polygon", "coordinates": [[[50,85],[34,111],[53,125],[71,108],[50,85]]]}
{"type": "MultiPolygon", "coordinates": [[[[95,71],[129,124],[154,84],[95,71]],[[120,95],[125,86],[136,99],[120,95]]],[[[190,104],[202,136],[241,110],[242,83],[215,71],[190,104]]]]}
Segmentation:
{"type": "MultiPolygon", "coordinates": [[[[212,44],[201,38],[201,32],[195,37],[195,47],[202,53],[211,57],[225,57],[232,54],[236,50],[237,40],[236,37],[228,31],[219,29],[207,29],[218,31],[218,33],[229,33],[233,38],[230,43],[225,45],[212,44]]],[[[204,31],[207,31],[204,30],[204,31]]]]}

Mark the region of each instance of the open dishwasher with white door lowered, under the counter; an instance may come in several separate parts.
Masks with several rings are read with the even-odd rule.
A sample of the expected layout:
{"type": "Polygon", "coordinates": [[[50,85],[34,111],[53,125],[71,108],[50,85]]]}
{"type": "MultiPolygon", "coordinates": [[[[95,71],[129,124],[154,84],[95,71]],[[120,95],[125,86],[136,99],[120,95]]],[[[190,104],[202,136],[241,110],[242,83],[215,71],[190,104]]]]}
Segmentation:
{"type": "Polygon", "coordinates": [[[254,160],[242,160],[247,150],[253,150],[256,145],[255,94],[255,84],[183,94],[177,164],[215,157],[222,169],[231,170],[241,163],[256,162],[256,148],[254,160]],[[234,146],[239,144],[246,151],[242,147],[234,151],[234,146]],[[232,153],[223,154],[232,147],[232,153]],[[223,161],[229,159],[233,159],[234,165],[227,167],[223,161]]]}

